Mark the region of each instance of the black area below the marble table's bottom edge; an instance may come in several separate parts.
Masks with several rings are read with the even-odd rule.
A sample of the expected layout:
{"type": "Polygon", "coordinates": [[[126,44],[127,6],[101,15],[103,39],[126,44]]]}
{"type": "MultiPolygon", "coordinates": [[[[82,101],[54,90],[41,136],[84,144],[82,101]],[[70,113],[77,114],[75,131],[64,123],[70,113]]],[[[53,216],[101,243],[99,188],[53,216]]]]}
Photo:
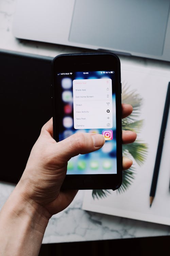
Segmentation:
{"type": "Polygon", "coordinates": [[[170,255],[170,237],[128,238],[43,244],[39,256],[157,256],[170,255]]]}

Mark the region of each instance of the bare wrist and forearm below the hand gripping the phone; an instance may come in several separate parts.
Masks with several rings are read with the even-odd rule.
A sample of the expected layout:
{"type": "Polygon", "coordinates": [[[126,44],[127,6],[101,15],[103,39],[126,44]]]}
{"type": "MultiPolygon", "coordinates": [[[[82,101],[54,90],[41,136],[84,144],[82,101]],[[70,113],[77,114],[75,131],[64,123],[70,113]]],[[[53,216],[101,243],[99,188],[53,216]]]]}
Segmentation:
{"type": "Polygon", "coordinates": [[[0,212],[0,255],[38,255],[49,213],[25,200],[17,184],[0,212]]]}

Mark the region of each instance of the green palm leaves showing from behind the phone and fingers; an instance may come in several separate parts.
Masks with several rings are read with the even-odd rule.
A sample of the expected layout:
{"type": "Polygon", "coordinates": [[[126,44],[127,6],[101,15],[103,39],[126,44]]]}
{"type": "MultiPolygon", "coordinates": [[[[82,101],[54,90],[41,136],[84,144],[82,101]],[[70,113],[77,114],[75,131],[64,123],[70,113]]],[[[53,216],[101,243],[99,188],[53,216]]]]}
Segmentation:
{"type": "MultiPolygon", "coordinates": [[[[131,104],[133,112],[130,116],[122,119],[122,129],[140,132],[143,124],[143,120],[138,120],[140,116],[140,109],[142,106],[142,98],[136,92],[136,90],[130,90],[130,86],[127,83],[122,82],[122,103],[131,104]]],[[[148,145],[141,141],[135,141],[131,144],[122,145],[123,155],[134,158],[136,163],[140,166],[146,160],[148,151],[148,145]]],[[[118,193],[125,192],[126,189],[132,184],[135,179],[136,170],[131,167],[128,170],[123,171],[122,185],[117,189],[118,193]]],[[[92,191],[92,197],[95,199],[105,198],[108,194],[111,194],[109,190],[94,189],[92,191]]]]}

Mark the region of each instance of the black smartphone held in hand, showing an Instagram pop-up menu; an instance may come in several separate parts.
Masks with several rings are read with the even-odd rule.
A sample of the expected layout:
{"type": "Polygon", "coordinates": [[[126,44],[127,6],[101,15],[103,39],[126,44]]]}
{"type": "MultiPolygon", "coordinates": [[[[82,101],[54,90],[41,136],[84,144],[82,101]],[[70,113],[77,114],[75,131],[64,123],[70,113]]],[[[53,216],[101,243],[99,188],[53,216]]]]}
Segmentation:
{"type": "Polygon", "coordinates": [[[96,152],[68,161],[63,189],[117,189],[122,183],[120,60],[113,53],[63,54],[52,61],[53,137],[101,133],[96,152]]]}

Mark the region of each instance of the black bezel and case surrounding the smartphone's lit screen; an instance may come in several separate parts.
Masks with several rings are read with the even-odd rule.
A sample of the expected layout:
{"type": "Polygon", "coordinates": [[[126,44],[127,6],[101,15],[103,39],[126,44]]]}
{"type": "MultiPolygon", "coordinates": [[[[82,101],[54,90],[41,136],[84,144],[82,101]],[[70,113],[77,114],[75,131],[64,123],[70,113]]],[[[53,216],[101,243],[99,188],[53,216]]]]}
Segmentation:
{"type": "Polygon", "coordinates": [[[52,61],[53,88],[53,138],[58,142],[57,120],[60,116],[59,99],[61,88],[56,84],[56,73],[68,71],[114,70],[114,89],[116,94],[116,142],[117,173],[116,174],[69,174],[66,175],[62,189],[117,189],[122,184],[122,127],[121,127],[121,76],[120,60],[113,53],[62,54],[52,61]]]}

